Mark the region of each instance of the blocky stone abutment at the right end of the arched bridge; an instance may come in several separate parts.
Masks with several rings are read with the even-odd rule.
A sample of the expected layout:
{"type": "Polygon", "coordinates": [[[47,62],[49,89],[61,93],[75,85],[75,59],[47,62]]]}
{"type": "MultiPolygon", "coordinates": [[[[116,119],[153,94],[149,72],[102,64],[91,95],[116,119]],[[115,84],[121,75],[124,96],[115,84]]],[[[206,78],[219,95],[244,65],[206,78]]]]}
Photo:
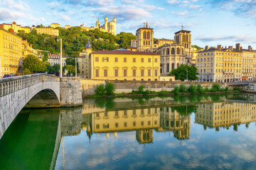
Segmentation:
{"type": "Polygon", "coordinates": [[[60,106],[72,107],[82,105],[82,94],[79,77],[60,79],[60,106]]]}

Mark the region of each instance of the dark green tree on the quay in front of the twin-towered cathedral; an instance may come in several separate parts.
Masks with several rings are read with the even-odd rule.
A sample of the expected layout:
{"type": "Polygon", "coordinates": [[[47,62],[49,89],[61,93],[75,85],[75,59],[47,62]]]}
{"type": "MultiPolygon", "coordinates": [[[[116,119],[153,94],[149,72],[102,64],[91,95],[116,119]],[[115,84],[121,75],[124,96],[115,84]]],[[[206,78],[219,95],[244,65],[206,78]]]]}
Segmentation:
{"type": "Polygon", "coordinates": [[[189,80],[196,80],[198,79],[198,69],[194,66],[189,66],[188,64],[181,64],[177,69],[171,70],[169,76],[175,76],[177,80],[184,80],[187,76],[187,69],[188,69],[188,79],[189,80]]]}

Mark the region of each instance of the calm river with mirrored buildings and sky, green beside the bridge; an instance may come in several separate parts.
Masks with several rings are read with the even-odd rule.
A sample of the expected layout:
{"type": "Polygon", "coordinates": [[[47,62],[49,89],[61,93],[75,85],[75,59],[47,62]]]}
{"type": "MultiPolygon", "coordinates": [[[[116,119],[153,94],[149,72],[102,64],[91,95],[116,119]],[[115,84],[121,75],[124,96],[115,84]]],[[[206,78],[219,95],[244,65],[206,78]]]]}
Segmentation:
{"type": "Polygon", "coordinates": [[[0,169],[255,169],[256,96],[87,98],[23,109],[0,169]]]}

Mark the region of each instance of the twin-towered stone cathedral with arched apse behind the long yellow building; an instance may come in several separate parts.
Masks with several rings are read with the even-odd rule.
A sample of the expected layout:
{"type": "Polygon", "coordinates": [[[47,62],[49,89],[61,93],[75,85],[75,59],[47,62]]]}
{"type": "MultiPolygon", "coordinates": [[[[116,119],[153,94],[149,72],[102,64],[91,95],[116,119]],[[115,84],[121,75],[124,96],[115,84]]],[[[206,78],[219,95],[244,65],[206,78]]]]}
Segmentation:
{"type": "Polygon", "coordinates": [[[131,46],[137,51],[160,54],[161,76],[167,76],[180,64],[191,64],[191,31],[183,30],[183,26],[175,33],[174,40],[163,38],[154,41],[154,30],[146,22],[136,31],[136,40],[131,40],[131,46]]]}

